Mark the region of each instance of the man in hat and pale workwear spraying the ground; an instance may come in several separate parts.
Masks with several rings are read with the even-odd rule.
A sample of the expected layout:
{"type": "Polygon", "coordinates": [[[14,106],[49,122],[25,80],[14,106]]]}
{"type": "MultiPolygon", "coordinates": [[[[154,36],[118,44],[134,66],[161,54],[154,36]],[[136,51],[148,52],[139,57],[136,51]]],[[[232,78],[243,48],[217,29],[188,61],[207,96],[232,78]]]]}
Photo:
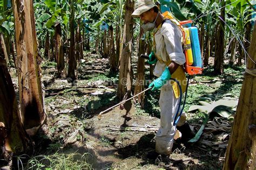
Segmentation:
{"type": "MultiPolygon", "coordinates": [[[[152,90],[161,90],[159,98],[160,128],[156,134],[156,152],[169,155],[176,133],[176,126],[173,126],[173,121],[179,103],[178,85],[171,82],[170,78],[180,82],[183,92],[186,88],[186,76],[182,68],[185,63],[181,44],[183,34],[177,24],[171,20],[166,20],[161,15],[158,6],[154,5],[151,0],[139,0],[134,7],[132,16],[140,18],[144,23],[142,27],[145,31],[153,30],[154,53],[149,55],[149,63],[156,61],[154,56],[157,58],[154,75],[159,78],[154,80],[150,87],[152,90]]],[[[181,115],[177,129],[182,134],[182,141],[188,141],[194,137],[194,133],[186,123],[185,114],[181,115]]]]}

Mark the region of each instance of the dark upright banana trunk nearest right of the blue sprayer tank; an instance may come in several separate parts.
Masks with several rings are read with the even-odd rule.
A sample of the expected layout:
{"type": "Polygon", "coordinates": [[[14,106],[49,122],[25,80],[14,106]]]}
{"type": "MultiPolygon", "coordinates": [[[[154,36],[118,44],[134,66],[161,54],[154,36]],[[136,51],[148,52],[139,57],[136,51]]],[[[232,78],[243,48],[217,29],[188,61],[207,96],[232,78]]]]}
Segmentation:
{"type": "Polygon", "coordinates": [[[218,25],[218,31],[215,44],[215,58],[214,58],[214,73],[217,75],[223,74],[224,71],[224,44],[225,44],[225,1],[221,0],[221,11],[218,25]]]}

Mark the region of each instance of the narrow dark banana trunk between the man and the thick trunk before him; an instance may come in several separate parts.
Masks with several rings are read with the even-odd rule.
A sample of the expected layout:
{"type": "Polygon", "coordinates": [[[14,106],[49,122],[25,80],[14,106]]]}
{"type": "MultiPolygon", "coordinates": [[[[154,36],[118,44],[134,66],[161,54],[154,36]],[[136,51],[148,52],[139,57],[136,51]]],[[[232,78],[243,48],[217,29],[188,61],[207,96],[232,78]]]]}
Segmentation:
{"type": "MultiPolygon", "coordinates": [[[[140,28],[140,35],[142,34],[142,28],[140,28]]],[[[145,60],[140,58],[140,54],[145,54],[146,42],[145,40],[139,39],[139,53],[138,53],[138,67],[137,67],[137,79],[134,88],[134,95],[139,94],[145,89],[144,82],[145,82],[145,60]]],[[[136,97],[135,102],[140,104],[140,108],[144,108],[144,96],[145,94],[140,94],[136,97]]]]}

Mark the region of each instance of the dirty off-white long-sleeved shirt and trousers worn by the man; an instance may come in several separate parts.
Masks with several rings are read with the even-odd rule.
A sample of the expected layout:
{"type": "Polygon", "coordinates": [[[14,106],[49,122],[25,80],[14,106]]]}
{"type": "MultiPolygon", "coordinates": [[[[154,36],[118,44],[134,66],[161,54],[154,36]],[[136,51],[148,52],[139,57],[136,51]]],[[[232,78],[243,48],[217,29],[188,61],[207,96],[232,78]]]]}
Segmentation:
{"type": "MultiPolygon", "coordinates": [[[[182,33],[176,24],[171,20],[166,20],[164,24],[155,31],[156,55],[163,61],[170,60],[183,65],[185,55],[181,45],[182,33]]],[[[154,68],[154,75],[160,76],[166,64],[158,61],[154,68]]],[[[159,98],[160,106],[160,128],[156,134],[156,151],[160,154],[171,154],[173,138],[176,133],[176,126],[173,126],[174,117],[178,108],[179,98],[173,94],[171,81],[161,87],[159,98]]],[[[177,126],[181,126],[186,121],[186,115],[182,114],[177,126]]]]}

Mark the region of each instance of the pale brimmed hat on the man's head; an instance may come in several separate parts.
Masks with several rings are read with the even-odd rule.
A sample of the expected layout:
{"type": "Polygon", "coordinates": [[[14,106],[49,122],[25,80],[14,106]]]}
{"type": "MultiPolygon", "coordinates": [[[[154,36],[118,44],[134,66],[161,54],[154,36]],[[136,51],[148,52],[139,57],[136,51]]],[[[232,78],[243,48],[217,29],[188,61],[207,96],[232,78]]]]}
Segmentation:
{"type": "Polygon", "coordinates": [[[138,0],[134,6],[132,17],[139,17],[143,12],[149,11],[155,5],[152,0],[138,0]]]}

